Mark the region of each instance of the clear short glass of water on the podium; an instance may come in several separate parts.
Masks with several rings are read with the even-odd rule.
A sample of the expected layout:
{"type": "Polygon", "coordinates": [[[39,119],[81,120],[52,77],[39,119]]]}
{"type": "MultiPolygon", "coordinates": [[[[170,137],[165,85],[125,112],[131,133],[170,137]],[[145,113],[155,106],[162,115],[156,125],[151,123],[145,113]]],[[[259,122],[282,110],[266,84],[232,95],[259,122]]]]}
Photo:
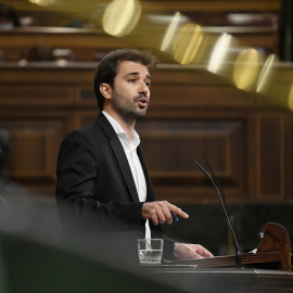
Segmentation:
{"type": "Polygon", "coordinates": [[[138,255],[142,265],[158,265],[163,255],[163,239],[139,239],[138,255]]]}

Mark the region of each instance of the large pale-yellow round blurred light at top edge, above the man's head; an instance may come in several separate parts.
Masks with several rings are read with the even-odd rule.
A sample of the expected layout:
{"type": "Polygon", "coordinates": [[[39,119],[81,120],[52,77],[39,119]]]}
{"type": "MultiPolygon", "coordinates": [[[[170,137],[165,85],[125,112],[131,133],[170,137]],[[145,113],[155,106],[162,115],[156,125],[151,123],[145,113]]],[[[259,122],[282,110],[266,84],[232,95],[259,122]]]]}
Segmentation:
{"type": "Polygon", "coordinates": [[[114,0],[103,15],[104,30],[115,37],[129,35],[141,15],[141,5],[137,0],[114,0]]]}

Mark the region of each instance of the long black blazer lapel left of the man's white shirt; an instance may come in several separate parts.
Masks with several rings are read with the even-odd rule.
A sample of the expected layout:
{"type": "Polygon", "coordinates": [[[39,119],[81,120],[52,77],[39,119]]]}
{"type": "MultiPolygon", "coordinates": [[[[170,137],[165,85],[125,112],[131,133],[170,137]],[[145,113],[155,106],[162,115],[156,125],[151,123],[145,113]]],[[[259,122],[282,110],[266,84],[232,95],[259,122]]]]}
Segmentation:
{"type": "Polygon", "coordinates": [[[115,157],[118,162],[120,174],[126,182],[128,191],[135,202],[139,202],[139,196],[136,188],[136,183],[131,174],[131,169],[129,167],[126,154],[124,152],[123,145],[117,137],[116,132],[114,131],[112,125],[106,119],[103,114],[100,114],[97,118],[97,122],[102,127],[105,136],[109,138],[109,143],[115,154],[115,157]]]}

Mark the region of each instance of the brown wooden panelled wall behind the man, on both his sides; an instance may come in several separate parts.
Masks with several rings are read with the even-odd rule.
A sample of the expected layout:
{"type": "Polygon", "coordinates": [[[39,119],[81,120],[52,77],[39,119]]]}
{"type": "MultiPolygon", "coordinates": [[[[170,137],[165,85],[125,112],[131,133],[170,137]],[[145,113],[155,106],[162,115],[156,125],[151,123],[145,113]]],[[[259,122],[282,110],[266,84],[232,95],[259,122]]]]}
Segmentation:
{"type": "MultiPolygon", "coordinates": [[[[53,195],[62,139],[99,113],[94,67],[0,64],[0,128],[11,132],[14,180],[53,195]]],[[[198,160],[212,165],[230,203],[293,201],[293,118],[286,107],[202,71],[160,65],[153,77],[151,106],[137,130],[158,199],[218,202],[198,160]]]]}

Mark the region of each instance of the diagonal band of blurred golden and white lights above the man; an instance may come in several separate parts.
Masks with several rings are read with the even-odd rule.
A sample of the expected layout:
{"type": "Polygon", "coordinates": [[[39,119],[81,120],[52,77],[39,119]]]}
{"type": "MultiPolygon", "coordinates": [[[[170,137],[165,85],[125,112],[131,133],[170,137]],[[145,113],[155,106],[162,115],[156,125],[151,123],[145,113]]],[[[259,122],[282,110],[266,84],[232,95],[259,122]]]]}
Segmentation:
{"type": "MultiPolygon", "coordinates": [[[[254,49],[240,52],[242,50],[242,47],[239,47],[240,39],[230,35],[241,34],[242,29],[239,30],[238,27],[233,29],[231,27],[227,29],[201,27],[192,23],[189,16],[180,13],[180,9],[174,14],[168,12],[170,11],[168,8],[164,11],[164,5],[157,3],[160,1],[151,1],[152,3],[149,4],[145,4],[148,1],[143,1],[142,5],[139,0],[86,0],[84,2],[29,0],[29,2],[42,7],[51,5],[50,10],[63,12],[66,14],[65,18],[71,15],[73,20],[81,20],[86,28],[94,27],[99,29],[99,34],[101,29],[104,29],[112,36],[125,37],[136,29],[131,34],[133,46],[151,49],[154,52],[160,50],[158,60],[162,62],[175,60],[182,65],[190,64],[192,67],[196,65],[199,69],[203,68],[220,75],[225,78],[222,80],[234,82],[239,89],[255,90],[267,97],[275,94],[277,81],[273,80],[273,68],[277,56],[271,54],[265,63],[262,63],[263,58],[265,59],[264,53],[254,49]],[[157,11],[149,7],[143,11],[142,21],[142,9],[148,5],[158,5],[157,11],[161,15],[152,13],[157,11]]],[[[123,43],[120,43],[122,47],[123,43]]],[[[129,42],[127,44],[129,46],[129,42]]],[[[262,44],[259,47],[262,48],[262,44]]],[[[285,86],[291,88],[291,84],[285,86]]],[[[292,88],[288,99],[292,110],[292,88]]]]}

